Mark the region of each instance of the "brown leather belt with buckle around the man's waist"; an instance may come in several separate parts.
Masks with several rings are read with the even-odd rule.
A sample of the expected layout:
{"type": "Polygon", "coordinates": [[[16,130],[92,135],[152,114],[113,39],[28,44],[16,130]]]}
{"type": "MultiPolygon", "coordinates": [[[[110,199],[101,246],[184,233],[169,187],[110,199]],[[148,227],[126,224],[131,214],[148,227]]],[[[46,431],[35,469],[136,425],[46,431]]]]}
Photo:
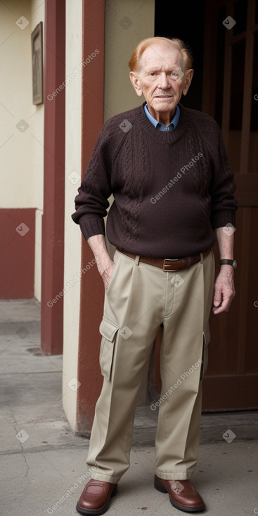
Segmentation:
{"type": "MultiPolygon", "coordinates": [[[[129,258],[135,259],[136,254],[131,254],[131,252],[122,251],[117,247],[117,251],[122,252],[129,258]]],[[[203,258],[207,257],[211,250],[205,251],[202,253],[203,258]]],[[[194,264],[198,264],[200,262],[200,254],[194,254],[193,256],[188,256],[185,258],[148,258],[145,256],[141,256],[139,258],[139,262],[148,265],[154,265],[155,267],[160,267],[165,272],[176,272],[181,271],[181,269],[189,269],[194,264]]]]}

